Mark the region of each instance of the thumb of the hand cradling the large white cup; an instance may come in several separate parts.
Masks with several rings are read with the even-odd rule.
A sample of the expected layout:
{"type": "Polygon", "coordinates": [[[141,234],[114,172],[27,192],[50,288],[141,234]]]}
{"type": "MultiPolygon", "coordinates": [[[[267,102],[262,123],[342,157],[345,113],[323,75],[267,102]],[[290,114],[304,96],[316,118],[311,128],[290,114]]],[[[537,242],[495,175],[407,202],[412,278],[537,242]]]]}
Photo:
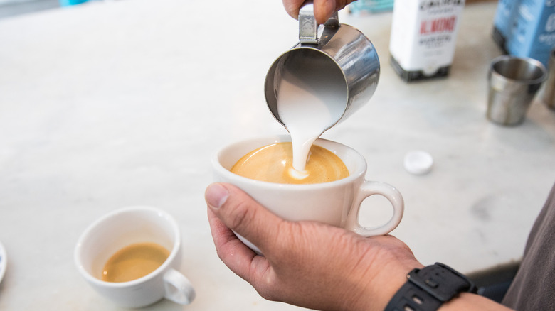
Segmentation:
{"type": "Polygon", "coordinates": [[[206,204],[229,229],[255,244],[260,251],[275,239],[283,219],[265,209],[238,187],[216,182],[206,188],[206,204]]]}

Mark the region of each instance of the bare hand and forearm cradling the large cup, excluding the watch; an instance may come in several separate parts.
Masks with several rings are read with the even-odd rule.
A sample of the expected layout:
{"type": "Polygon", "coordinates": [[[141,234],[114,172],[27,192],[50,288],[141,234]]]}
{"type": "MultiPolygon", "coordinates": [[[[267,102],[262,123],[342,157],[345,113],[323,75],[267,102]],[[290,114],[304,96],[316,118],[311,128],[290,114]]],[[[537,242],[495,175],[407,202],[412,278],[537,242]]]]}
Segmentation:
{"type": "MultiPolygon", "coordinates": [[[[393,236],[364,238],[318,222],[287,222],[229,184],[209,186],[205,197],[218,256],[268,300],[317,310],[384,310],[408,272],[423,267],[393,236]]],[[[462,293],[440,310],[507,309],[462,293]]]]}

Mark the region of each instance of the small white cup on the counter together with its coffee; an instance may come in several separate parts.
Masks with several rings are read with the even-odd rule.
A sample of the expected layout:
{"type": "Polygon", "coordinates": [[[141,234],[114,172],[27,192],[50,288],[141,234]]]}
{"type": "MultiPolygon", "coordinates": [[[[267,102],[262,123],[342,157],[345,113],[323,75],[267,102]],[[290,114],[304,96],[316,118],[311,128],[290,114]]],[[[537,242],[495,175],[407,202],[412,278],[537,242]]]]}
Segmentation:
{"type": "Polygon", "coordinates": [[[75,247],[83,278],[117,305],[144,307],[162,298],[187,305],[195,298],[176,269],[181,234],[176,221],[153,207],[127,207],[90,225],[75,247]]]}

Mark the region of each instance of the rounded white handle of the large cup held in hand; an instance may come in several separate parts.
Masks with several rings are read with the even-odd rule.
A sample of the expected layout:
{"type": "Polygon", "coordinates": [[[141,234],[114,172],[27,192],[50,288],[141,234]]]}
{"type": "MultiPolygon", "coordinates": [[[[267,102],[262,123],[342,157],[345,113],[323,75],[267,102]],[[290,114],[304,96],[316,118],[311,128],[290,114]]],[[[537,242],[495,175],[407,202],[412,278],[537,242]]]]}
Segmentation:
{"type": "Polygon", "coordinates": [[[365,180],[359,187],[359,193],[355,197],[355,201],[351,211],[347,215],[346,228],[354,231],[356,234],[361,236],[377,236],[384,235],[395,229],[401,218],[403,217],[404,203],[401,192],[399,192],[395,187],[386,184],[385,182],[372,182],[365,180]],[[362,227],[359,223],[359,212],[362,201],[371,195],[382,195],[391,202],[393,207],[393,216],[389,219],[386,224],[382,224],[379,227],[366,228],[362,227]]]}

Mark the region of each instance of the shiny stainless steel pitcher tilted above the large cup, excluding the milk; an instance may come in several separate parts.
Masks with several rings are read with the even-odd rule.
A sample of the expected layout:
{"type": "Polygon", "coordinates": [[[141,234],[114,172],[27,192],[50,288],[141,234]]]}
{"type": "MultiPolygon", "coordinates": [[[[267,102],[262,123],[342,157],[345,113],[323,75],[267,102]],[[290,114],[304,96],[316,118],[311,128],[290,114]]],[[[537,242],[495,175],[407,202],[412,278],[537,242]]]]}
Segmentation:
{"type": "MultiPolygon", "coordinates": [[[[337,12],[324,25],[317,25],[313,4],[305,4],[299,12],[299,42],[273,62],[265,80],[268,108],[282,125],[284,124],[277,111],[281,78],[288,65],[302,63],[302,60],[310,60],[311,64],[317,60],[315,63],[325,63],[327,67],[337,68],[337,75],[341,77],[334,81],[344,84],[344,113],[327,129],[366,104],[376,90],[380,62],[370,40],[358,29],[340,24],[337,12]]],[[[318,66],[307,69],[318,70],[316,67],[318,66]]],[[[322,72],[322,75],[329,75],[329,72],[322,72]]]]}

